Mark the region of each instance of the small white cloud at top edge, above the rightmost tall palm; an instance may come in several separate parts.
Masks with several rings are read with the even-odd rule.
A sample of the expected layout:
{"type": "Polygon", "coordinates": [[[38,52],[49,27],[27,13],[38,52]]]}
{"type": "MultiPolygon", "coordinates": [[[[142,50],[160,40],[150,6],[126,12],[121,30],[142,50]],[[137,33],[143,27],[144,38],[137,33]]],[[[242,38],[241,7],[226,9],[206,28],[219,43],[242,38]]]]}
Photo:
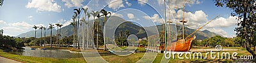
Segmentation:
{"type": "Polygon", "coordinates": [[[123,1],[114,1],[108,5],[108,8],[112,8],[113,10],[118,10],[119,8],[124,7],[123,1]]]}

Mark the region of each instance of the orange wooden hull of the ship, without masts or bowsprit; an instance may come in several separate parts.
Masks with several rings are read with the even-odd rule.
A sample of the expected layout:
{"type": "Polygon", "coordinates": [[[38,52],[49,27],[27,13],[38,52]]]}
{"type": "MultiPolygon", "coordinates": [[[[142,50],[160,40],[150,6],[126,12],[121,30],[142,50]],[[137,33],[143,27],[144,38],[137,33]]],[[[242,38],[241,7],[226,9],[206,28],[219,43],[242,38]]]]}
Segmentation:
{"type": "Polygon", "coordinates": [[[170,45],[167,45],[167,51],[173,52],[188,52],[190,50],[190,46],[192,41],[195,39],[195,36],[189,39],[178,39],[177,42],[173,42],[170,45]]]}

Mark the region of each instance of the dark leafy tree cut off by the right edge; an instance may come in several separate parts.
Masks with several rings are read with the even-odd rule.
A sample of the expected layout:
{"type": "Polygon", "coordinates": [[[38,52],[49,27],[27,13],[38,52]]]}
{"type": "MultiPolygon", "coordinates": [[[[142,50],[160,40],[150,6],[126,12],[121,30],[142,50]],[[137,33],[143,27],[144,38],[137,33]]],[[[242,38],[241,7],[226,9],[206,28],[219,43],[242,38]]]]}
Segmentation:
{"type": "Polygon", "coordinates": [[[256,56],[250,45],[256,42],[256,6],[255,0],[215,0],[216,6],[226,6],[232,10],[231,15],[241,20],[235,31],[237,36],[245,40],[246,50],[256,56]]]}

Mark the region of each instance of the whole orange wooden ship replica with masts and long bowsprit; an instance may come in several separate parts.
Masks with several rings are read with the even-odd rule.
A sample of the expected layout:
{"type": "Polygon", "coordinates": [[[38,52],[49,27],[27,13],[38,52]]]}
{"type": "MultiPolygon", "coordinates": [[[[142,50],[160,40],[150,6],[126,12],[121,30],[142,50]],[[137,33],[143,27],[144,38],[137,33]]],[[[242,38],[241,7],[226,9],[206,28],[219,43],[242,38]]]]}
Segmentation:
{"type": "MultiPolygon", "coordinates": [[[[191,48],[192,41],[196,38],[195,32],[199,31],[200,29],[202,29],[202,27],[204,27],[205,25],[209,24],[209,22],[212,22],[212,20],[214,20],[215,18],[218,17],[218,16],[214,17],[212,20],[207,22],[205,25],[202,25],[201,27],[196,29],[196,31],[194,31],[193,33],[189,34],[189,36],[187,36],[186,38],[184,38],[184,24],[186,24],[188,22],[188,21],[185,20],[185,17],[184,17],[185,1],[186,0],[184,0],[184,4],[183,4],[183,8],[182,8],[183,9],[183,17],[182,17],[182,20],[179,21],[182,24],[182,38],[178,38],[176,42],[169,42],[169,44],[166,44],[166,39],[165,39],[164,42],[160,42],[161,44],[159,46],[159,50],[172,51],[172,52],[188,52],[190,50],[190,48],[191,48]]],[[[165,0],[164,0],[164,3],[165,3],[165,0]]],[[[169,7],[170,7],[170,1],[169,1],[169,7]]],[[[170,10],[169,10],[169,15],[170,15],[170,10]]],[[[169,21],[167,21],[166,23],[169,23],[169,28],[168,28],[169,29],[169,34],[168,34],[168,36],[172,36],[170,34],[170,24],[173,23],[173,22],[169,18],[169,21]]],[[[164,30],[163,30],[164,34],[166,34],[166,27],[164,28],[164,30]]],[[[175,35],[173,35],[173,36],[175,36],[175,35]]],[[[170,39],[170,38],[167,38],[167,39],[170,39]]]]}

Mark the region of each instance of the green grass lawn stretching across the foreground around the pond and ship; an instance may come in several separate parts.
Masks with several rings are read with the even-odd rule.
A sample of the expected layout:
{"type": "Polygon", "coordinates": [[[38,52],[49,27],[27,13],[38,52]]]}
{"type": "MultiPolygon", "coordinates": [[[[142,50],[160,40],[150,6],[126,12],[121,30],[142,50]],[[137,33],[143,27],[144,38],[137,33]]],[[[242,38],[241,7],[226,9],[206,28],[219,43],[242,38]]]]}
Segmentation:
{"type": "MultiPolygon", "coordinates": [[[[230,48],[230,47],[227,47],[230,48]]],[[[233,47],[232,47],[233,48],[233,47]]],[[[143,50],[145,48],[138,48],[138,50],[143,50]]],[[[244,50],[243,48],[237,48],[241,49],[239,51],[236,51],[238,53],[237,57],[241,55],[251,55],[249,52],[244,50]]],[[[102,51],[102,50],[101,50],[102,51]]],[[[100,52],[101,52],[100,51],[100,52]]],[[[221,52],[220,52],[221,53],[221,52]]],[[[230,52],[233,53],[233,52],[230,52]]],[[[102,56],[103,59],[105,59],[108,62],[115,63],[115,62],[137,62],[140,60],[145,53],[133,53],[128,56],[118,56],[118,55],[104,55],[102,56]]],[[[68,59],[54,59],[54,58],[47,58],[47,57],[29,57],[29,56],[22,56],[22,55],[13,55],[11,53],[3,52],[3,50],[0,50],[0,55],[3,57],[9,57],[11,59],[17,59],[22,60],[24,62],[36,62],[36,63],[44,63],[44,62],[72,62],[72,63],[81,63],[86,62],[83,57],[81,58],[68,58],[68,59]]],[[[163,58],[164,53],[157,53],[157,57],[154,60],[155,63],[161,62],[161,59],[163,58]]],[[[234,61],[244,61],[244,60],[233,60],[233,59],[211,59],[210,55],[207,55],[207,59],[177,59],[177,54],[175,55],[175,59],[170,59],[169,62],[234,62],[234,61]]],[[[181,57],[185,58],[185,55],[182,55],[181,57]]],[[[193,57],[193,55],[192,55],[193,57]]],[[[205,57],[205,52],[202,52],[202,57],[205,57]]],[[[154,57],[152,57],[154,58],[154,57]]],[[[249,60],[251,61],[251,60],[249,60]]]]}

